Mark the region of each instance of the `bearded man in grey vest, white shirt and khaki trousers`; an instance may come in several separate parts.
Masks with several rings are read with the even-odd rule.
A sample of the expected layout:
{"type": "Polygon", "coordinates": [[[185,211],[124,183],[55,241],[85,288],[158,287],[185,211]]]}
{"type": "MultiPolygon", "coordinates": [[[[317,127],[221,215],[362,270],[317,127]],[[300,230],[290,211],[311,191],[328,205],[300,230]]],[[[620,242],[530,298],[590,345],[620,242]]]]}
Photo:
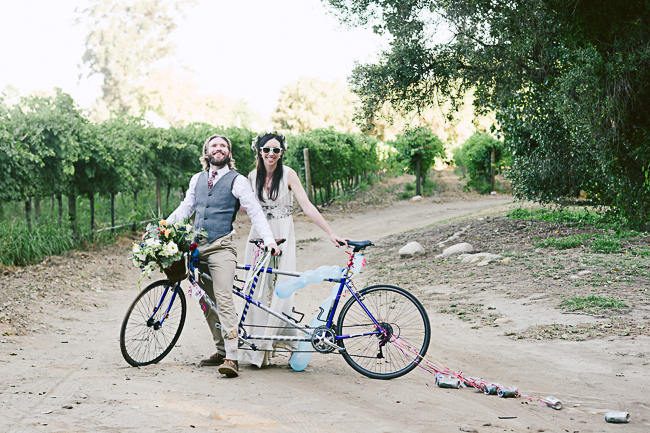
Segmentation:
{"type": "Polygon", "coordinates": [[[232,242],[232,222],[240,203],[264,244],[274,254],[279,250],[250,183],[233,169],[231,153],[230,140],[222,135],[213,135],[205,141],[200,158],[203,171],[192,176],[185,199],[167,221],[182,221],[196,212],[194,227],[208,234],[199,243],[199,259],[208,264],[212,277],[212,284],[204,281],[202,288],[217,305],[217,314],[212,309],[204,310],[217,352],[202,360],[199,366],[218,365],[219,373],[237,377],[239,318],[232,299],[237,251],[232,242]]]}

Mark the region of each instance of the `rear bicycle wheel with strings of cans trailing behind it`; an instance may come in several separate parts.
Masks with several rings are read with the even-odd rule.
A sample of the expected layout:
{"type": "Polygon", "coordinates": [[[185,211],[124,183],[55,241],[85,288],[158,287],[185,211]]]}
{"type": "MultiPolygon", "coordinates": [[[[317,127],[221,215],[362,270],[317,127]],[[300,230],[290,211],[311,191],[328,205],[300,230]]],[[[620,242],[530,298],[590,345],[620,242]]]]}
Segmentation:
{"type": "Polygon", "coordinates": [[[393,379],[413,370],[427,353],[431,337],[429,317],[420,301],[389,285],[366,287],[358,296],[363,305],[349,299],[337,323],[343,358],[373,379],[393,379]]]}

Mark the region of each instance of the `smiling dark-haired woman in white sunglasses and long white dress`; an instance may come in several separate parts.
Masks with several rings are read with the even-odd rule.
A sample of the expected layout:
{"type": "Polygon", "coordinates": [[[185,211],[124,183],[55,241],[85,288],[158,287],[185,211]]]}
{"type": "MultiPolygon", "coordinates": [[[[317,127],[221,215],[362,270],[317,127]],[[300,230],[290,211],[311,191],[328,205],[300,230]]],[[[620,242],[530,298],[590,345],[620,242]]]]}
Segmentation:
{"type": "MultiPolygon", "coordinates": [[[[296,270],[296,237],[293,229],[293,198],[302,208],[302,211],[311,220],[320,227],[330,240],[339,246],[339,242],[345,244],[345,240],[340,238],[334,233],[325,221],[325,218],[318,212],[307,197],[307,193],[300,183],[300,179],[296,172],[282,164],[282,159],[285,151],[284,137],[277,133],[268,133],[258,136],[254,142],[254,149],[257,153],[257,169],[250,172],[248,179],[253,186],[255,195],[262,205],[262,210],[266,214],[269,221],[273,236],[276,239],[286,239],[286,242],[281,245],[282,255],[278,258],[278,263],[275,265],[278,269],[285,271],[296,270]]],[[[254,228],[248,235],[248,239],[258,238],[258,234],[254,228]]],[[[255,257],[255,246],[251,243],[246,243],[246,258],[245,263],[251,263],[255,257]]],[[[283,277],[279,277],[281,279],[283,277]]],[[[285,277],[286,278],[286,277],[285,277]]],[[[289,316],[293,316],[291,310],[293,308],[293,298],[278,298],[273,290],[273,278],[267,279],[266,287],[258,287],[255,290],[257,300],[277,312],[284,312],[289,316]],[[261,294],[261,298],[260,298],[261,294]]],[[[276,281],[277,283],[278,281],[276,281]]],[[[248,331],[251,334],[264,334],[270,335],[298,335],[296,330],[287,327],[286,323],[278,320],[265,313],[258,308],[252,308],[248,311],[246,316],[246,325],[249,326],[248,331]],[[263,326],[261,328],[255,326],[263,326]]],[[[258,340],[255,342],[258,349],[240,350],[239,360],[242,362],[249,362],[258,367],[269,364],[269,358],[273,350],[277,348],[286,350],[295,350],[297,342],[289,341],[264,341],[258,340]]]]}

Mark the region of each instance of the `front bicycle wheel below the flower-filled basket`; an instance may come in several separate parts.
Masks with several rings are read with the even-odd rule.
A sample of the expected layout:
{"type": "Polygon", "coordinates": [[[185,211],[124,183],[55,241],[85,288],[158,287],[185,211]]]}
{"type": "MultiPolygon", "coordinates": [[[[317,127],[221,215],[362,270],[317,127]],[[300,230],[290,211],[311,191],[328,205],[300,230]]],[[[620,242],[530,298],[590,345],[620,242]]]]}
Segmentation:
{"type": "Polygon", "coordinates": [[[185,294],[180,284],[161,280],[148,285],[135,298],[122,321],[120,349],[126,362],[139,367],[154,364],[167,356],[181,335],[186,310],[185,294]]]}

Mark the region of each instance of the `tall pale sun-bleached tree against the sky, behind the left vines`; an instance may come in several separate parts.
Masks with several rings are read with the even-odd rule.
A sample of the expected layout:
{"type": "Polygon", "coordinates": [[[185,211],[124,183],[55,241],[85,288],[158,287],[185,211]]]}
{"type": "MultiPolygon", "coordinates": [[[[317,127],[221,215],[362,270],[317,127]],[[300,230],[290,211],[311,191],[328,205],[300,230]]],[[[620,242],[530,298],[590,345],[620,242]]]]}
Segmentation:
{"type": "Polygon", "coordinates": [[[150,106],[148,81],[173,49],[168,36],[179,5],[172,0],[92,0],[77,12],[77,21],[88,28],[82,60],[88,75],[103,78],[100,117],[111,111],[140,114],[150,106]]]}

